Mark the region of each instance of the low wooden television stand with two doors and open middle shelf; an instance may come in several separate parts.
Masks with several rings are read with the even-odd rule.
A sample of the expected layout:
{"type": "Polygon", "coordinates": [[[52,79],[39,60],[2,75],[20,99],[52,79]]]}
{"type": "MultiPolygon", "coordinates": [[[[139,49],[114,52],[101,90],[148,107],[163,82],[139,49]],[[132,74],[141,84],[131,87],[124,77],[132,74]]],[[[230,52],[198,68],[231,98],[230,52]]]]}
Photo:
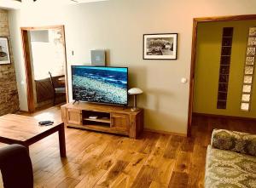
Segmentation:
{"type": "Polygon", "coordinates": [[[83,128],[137,139],[143,131],[143,109],[79,102],[61,106],[62,121],[70,128],[83,128]],[[97,116],[96,119],[90,118],[97,116]]]}

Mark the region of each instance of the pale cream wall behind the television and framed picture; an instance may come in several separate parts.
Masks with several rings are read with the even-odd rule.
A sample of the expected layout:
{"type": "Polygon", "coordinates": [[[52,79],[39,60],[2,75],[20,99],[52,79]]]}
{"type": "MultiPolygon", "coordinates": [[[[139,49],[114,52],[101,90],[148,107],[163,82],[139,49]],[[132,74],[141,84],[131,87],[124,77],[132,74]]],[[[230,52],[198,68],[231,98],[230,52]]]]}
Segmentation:
{"type": "Polygon", "coordinates": [[[20,72],[20,109],[27,109],[26,87],[20,84],[25,80],[20,26],[63,24],[69,76],[70,65],[90,62],[90,49],[107,49],[108,65],[129,66],[131,87],[145,92],[138,104],[145,109],[145,127],[180,134],[187,131],[189,84],[180,79],[189,78],[193,18],[256,14],[254,0],[110,0],[58,9],[36,7],[9,14],[20,72]],[[143,34],[161,32],[178,33],[177,60],[143,60],[143,34]]]}

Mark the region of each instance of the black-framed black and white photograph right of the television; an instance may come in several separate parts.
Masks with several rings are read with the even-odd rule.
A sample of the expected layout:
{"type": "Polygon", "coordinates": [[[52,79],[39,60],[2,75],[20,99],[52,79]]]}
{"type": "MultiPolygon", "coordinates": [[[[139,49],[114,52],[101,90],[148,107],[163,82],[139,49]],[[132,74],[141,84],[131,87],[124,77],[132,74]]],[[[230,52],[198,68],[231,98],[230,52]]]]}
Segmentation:
{"type": "Polygon", "coordinates": [[[144,60],[177,60],[177,33],[143,35],[144,60]]]}

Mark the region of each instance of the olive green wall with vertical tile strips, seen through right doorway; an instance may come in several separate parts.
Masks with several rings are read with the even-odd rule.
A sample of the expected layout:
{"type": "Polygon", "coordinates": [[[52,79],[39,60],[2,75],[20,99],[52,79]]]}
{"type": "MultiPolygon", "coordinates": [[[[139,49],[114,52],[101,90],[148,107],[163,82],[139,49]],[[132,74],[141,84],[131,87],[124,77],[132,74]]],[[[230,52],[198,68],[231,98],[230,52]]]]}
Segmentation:
{"type": "MultiPolygon", "coordinates": [[[[253,87],[251,110],[240,110],[247,37],[251,26],[256,26],[256,20],[207,22],[198,25],[194,112],[234,117],[256,117],[256,86],[253,87]],[[224,27],[234,27],[234,33],[227,108],[217,109],[219,61],[224,27]]],[[[253,82],[256,84],[255,76],[253,82]]]]}

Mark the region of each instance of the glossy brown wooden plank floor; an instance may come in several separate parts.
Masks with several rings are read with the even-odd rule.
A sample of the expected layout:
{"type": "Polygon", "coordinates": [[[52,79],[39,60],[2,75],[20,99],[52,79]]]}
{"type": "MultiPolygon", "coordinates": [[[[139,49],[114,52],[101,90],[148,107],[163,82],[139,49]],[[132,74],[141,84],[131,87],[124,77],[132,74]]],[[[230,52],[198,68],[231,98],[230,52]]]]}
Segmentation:
{"type": "MultiPolygon", "coordinates": [[[[32,116],[61,118],[59,107],[32,116]]],[[[194,117],[192,137],[144,133],[139,140],[66,129],[67,158],[53,134],[30,148],[35,187],[204,187],[212,128],[256,133],[255,122],[194,117]]]]}

